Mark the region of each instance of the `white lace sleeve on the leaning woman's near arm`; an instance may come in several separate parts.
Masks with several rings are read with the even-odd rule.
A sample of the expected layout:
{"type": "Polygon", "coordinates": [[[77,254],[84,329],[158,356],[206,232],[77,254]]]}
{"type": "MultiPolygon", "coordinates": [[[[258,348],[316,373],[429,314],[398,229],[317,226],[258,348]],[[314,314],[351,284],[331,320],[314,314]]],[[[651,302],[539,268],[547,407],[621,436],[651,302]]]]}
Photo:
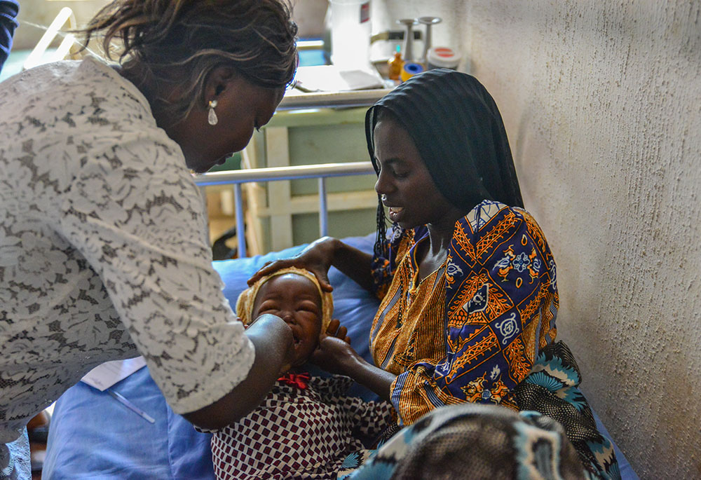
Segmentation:
{"type": "Polygon", "coordinates": [[[240,383],[254,349],[212,268],[203,200],[178,154],[130,134],[86,158],[60,231],[100,275],[173,411],[186,413],[240,383]]]}

